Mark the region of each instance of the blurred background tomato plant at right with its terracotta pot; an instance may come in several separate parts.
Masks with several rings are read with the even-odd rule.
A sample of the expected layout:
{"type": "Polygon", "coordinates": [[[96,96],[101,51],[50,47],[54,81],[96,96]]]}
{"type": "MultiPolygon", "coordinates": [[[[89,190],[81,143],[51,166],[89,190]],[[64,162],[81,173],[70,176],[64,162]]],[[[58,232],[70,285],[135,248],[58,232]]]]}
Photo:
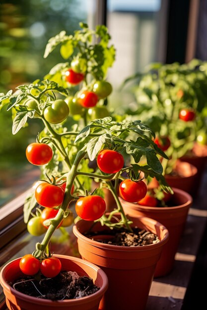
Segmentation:
{"type": "Polygon", "coordinates": [[[151,64],[143,74],[135,76],[138,84],[133,92],[137,110],[127,110],[133,117],[139,115],[152,128],[156,133],[155,143],[170,157],[169,161],[162,161],[168,183],[187,192],[195,188],[197,167],[190,165],[186,155],[195,150],[201,123],[204,124],[201,111],[204,109],[207,79],[197,65],[195,60],[188,65],[151,64]],[[181,162],[185,159],[189,163],[181,162]]]}

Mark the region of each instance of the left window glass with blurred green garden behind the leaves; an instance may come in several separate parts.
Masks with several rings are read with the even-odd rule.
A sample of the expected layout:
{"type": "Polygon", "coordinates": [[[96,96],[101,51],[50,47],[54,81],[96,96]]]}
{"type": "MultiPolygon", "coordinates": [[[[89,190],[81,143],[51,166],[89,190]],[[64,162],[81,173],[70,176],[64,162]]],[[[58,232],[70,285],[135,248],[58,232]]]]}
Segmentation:
{"type": "MultiPolygon", "coordinates": [[[[87,22],[90,6],[85,0],[6,0],[0,4],[0,93],[42,79],[58,62],[58,49],[43,58],[48,39],[87,22]]],[[[11,113],[0,112],[0,206],[39,178],[39,168],[26,160],[25,149],[42,130],[32,121],[26,130],[11,133],[11,113]]]]}

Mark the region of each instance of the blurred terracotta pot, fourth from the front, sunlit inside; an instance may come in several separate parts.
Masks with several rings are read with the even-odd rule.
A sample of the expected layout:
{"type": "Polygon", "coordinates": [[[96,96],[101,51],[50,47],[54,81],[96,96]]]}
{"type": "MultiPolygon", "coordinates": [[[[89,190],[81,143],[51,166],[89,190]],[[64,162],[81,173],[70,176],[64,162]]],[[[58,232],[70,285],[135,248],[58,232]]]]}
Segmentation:
{"type": "Polygon", "coordinates": [[[178,175],[165,175],[165,180],[171,187],[179,188],[189,194],[194,190],[197,168],[184,161],[177,161],[175,171],[178,175]]]}

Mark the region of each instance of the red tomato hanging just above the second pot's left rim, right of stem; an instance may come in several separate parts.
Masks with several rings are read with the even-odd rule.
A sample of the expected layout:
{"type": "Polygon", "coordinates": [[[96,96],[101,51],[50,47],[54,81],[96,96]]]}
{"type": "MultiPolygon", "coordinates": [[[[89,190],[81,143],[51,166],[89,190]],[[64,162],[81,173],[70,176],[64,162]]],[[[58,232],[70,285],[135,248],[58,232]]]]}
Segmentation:
{"type": "Polygon", "coordinates": [[[102,197],[97,195],[81,197],[75,204],[75,211],[82,219],[95,221],[106,211],[106,203],[102,197]]]}

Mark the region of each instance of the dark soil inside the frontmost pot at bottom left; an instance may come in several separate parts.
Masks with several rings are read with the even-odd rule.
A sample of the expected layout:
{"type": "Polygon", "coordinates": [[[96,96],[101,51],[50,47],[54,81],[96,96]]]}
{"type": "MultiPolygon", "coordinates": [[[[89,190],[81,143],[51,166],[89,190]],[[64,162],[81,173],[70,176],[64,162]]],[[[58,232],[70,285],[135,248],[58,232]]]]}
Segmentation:
{"type": "Polygon", "coordinates": [[[72,271],[61,271],[56,277],[43,278],[41,281],[37,281],[31,276],[25,276],[9,284],[26,295],[54,301],[77,299],[91,295],[100,289],[93,284],[91,278],[79,276],[72,271]]]}

